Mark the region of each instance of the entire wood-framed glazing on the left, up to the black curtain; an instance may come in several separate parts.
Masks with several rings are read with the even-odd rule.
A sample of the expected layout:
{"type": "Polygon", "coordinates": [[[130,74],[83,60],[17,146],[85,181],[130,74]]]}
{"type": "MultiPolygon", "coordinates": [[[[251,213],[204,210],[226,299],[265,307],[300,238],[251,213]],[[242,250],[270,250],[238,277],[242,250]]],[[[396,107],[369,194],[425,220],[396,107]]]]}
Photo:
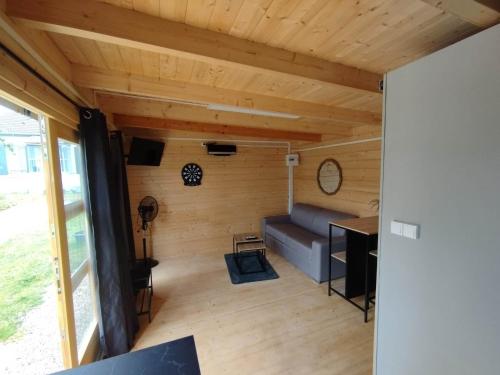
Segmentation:
{"type": "MultiPolygon", "coordinates": [[[[11,67],[8,64],[4,65],[7,66],[6,69],[9,72],[11,67]]],[[[19,73],[19,69],[13,69],[9,77],[18,77],[19,73]]],[[[23,79],[32,79],[32,77],[23,79]]],[[[2,90],[5,87],[10,88],[9,84],[7,82],[2,86],[2,90]]],[[[29,87],[27,90],[30,91],[29,87]]],[[[18,88],[15,88],[9,96],[14,98],[18,91],[18,88]]],[[[25,95],[25,98],[30,99],[31,96],[25,95]]],[[[46,99],[53,100],[53,97],[46,99]]],[[[84,199],[86,181],[81,173],[84,169],[81,165],[77,126],[71,121],[71,119],[78,118],[78,113],[65,109],[65,113],[61,115],[59,111],[53,111],[51,106],[47,105],[49,112],[46,114],[49,116],[46,117],[25,110],[22,108],[24,103],[20,100],[13,99],[13,101],[15,103],[0,98],[0,117],[4,116],[3,123],[5,124],[0,129],[0,211],[2,211],[1,208],[4,208],[3,211],[12,208],[8,214],[0,215],[3,217],[3,221],[0,220],[2,224],[0,240],[5,239],[4,248],[6,249],[0,253],[4,260],[7,258],[7,252],[12,253],[9,254],[14,259],[7,263],[4,261],[4,268],[0,272],[0,285],[14,287],[14,289],[9,289],[7,294],[0,293],[0,302],[3,302],[2,309],[0,309],[3,312],[3,315],[0,314],[2,318],[0,319],[0,341],[2,334],[6,336],[3,332],[5,323],[14,316],[11,311],[13,303],[10,303],[10,300],[6,301],[5,295],[17,298],[20,301],[19,305],[23,306],[28,303],[39,304],[47,295],[54,302],[52,317],[55,319],[55,327],[50,325],[48,316],[31,321],[36,321],[45,328],[50,327],[47,330],[49,336],[54,339],[53,343],[56,344],[55,351],[57,354],[62,354],[59,356],[60,359],[62,357],[63,362],[60,365],[66,368],[76,367],[94,360],[99,345],[96,282],[93,272],[95,267],[89,245],[91,241],[89,241],[88,210],[84,199]],[[3,111],[2,106],[5,107],[3,111]],[[18,124],[14,120],[19,115],[24,117],[16,127],[18,131],[12,134],[10,129],[13,124],[18,124]],[[56,118],[62,120],[63,123],[59,123],[56,118]],[[6,197],[5,194],[10,193],[11,188],[15,196],[6,197]],[[42,245],[34,241],[32,238],[34,236],[29,236],[30,233],[28,233],[35,227],[35,216],[42,207],[42,204],[36,200],[40,195],[38,193],[46,194],[42,203],[48,203],[48,215],[45,211],[46,217],[43,222],[46,227],[44,233],[47,250],[45,263],[42,264],[45,267],[43,272],[33,266],[38,260],[37,255],[43,250],[42,245]],[[20,245],[13,246],[11,242],[6,242],[9,240],[6,234],[19,234],[20,245]],[[23,255],[26,259],[22,259],[23,255]],[[15,277],[22,276],[22,270],[28,273],[28,277],[23,277],[21,281],[18,281],[15,277]],[[7,271],[12,271],[15,277],[7,274],[7,271]],[[45,276],[46,279],[43,278],[45,276]],[[53,292],[51,294],[39,293],[28,299],[26,285],[35,282],[43,284],[43,288],[51,284],[53,292]]],[[[43,98],[30,99],[26,104],[31,108],[37,108],[40,102],[43,102],[43,98]]],[[[66,106],[61,108],[66,108],[66,106]]],[[[45,310],[42,311],[45,312],[45,310]]],[[[23,314],[16,316],[18,315],[24,316],[23,314]]],[[[11,323],[7,328],[13,332],[19,324],[17,321],[11,323]]],[[[40,364],[37,362],[37,356],[46,357],[45,362],[54,362],[52,358],[55,356],[49,355],[45,350],[50,340],[37,337],[32,342],[42,341],[43,345],[35,348],[37,349],[35,351],[33,351],[33,345],[28,343],[22,347],[31,352],[9,352],[13,353],[9,357],[18,357],[8,358],[8,360],[26,362],[30,366],[34,364],[34,367],[40,364]],[[21,357],[23,359],[20,359],[21,357]]],[[[3,349],[0,351],[4,352],[3,349]]],[[[4,367],[5,363],[2,363],[0,368],[4,369],[4,367]]],[[[60,367],[55,369],[38,366],[35,370],[36,373],[52,373],[59,369],[60,367]]],[[[30,374],[30,371],[23,368],[17,373],[30,374]]]]}

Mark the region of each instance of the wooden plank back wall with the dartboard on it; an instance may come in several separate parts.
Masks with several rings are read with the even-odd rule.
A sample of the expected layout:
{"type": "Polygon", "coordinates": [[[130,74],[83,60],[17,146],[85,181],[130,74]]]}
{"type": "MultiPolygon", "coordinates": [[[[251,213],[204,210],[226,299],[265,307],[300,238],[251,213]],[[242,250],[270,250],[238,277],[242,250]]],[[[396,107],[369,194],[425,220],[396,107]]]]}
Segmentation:
{"type": "Polygon", "coordinates": [[[201,142],[167,141],[161,166],[128,166],[136,250],[141,254],[137,206],[154,196],[160,213],[153,223],[155,258],[232,251],[236,232],[260,231],[264,216],[284,214],[288,201],[286,148],[238,147],[229,157],[209,156],[201,142]],[[203,169],[202,185],[186,187],[181,169],[203,169]]]}

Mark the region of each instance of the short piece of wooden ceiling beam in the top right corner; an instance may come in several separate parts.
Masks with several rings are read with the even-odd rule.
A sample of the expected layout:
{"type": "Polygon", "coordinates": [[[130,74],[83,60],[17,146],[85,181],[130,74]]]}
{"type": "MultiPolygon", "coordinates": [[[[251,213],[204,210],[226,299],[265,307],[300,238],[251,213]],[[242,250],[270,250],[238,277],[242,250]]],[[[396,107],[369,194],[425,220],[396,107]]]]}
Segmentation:
{"type": "Polygon", "coordinates": [[[454,15],[462,21],[480,28],[487,28],[500,22],[498,1],[477,0],[422,0],[443,12],[454,15]]]}

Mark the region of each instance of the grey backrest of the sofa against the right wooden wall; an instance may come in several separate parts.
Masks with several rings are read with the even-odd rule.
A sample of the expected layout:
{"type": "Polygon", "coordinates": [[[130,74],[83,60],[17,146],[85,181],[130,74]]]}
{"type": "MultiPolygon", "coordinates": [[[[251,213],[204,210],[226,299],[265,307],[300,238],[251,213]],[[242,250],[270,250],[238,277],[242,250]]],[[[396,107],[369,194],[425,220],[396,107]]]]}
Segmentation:
{"type": "MultiPolygon", "coordinates": [[[[328,237],[328,222],[332,220],[351,219],[356,216],[334,210],[327,210],[306,203],[293,205],[290,219],[292,223],[303,227],[319,236],[328,237]]],[[[333,236],[343,236],[343,229],[333,227],[333,236]]]]}

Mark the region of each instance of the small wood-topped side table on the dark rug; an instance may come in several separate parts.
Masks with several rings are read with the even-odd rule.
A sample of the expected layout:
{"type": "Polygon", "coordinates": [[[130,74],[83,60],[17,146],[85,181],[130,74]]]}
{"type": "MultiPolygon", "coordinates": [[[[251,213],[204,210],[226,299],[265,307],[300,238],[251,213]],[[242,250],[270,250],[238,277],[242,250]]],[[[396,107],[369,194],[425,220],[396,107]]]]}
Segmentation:
{"type": "Polygon", "coordinates": [[[241,274],[265,272],[266,245],[264,239],[255,233],[238,233],[233,236],[233,255],[238,271],[241,274]],[[244,271],[241,260],[244,257],[256,256],[261,269],[256,271],[244,271]]]}

